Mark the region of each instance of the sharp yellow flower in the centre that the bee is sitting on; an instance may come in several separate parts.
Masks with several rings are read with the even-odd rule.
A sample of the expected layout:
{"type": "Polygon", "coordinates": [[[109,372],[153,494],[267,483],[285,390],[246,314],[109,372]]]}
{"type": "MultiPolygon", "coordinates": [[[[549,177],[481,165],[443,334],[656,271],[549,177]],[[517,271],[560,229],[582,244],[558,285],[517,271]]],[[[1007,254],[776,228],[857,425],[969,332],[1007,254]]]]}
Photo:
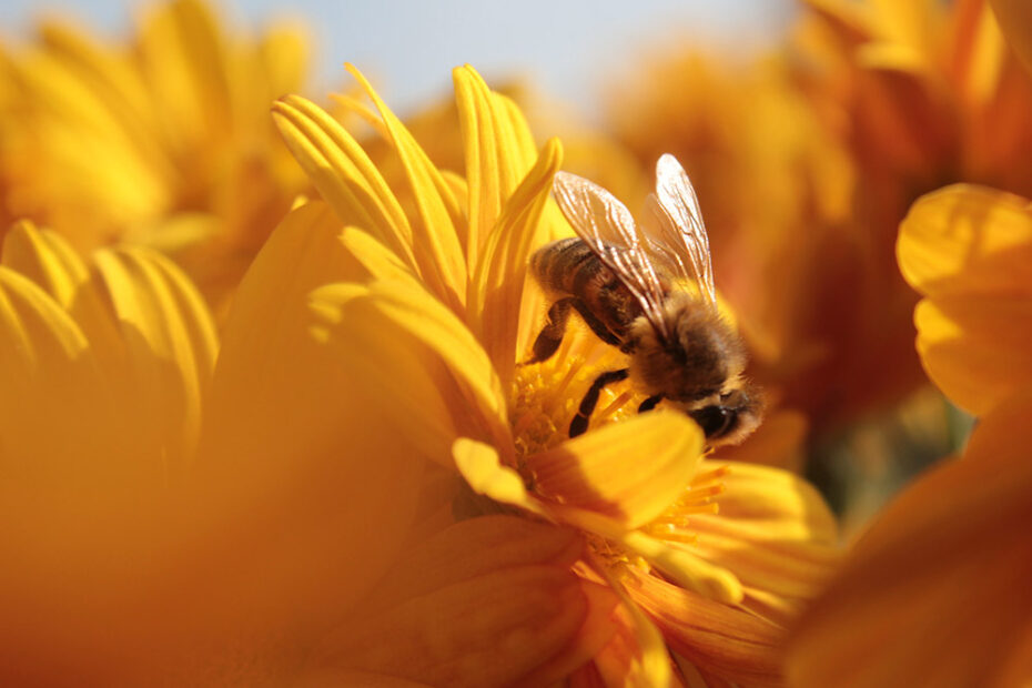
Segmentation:
{"type": "MultiPolygon", "coordinates": [[[[401,189],[308,101],[287,97],[273,110],[346,225],[337,250],[366,272],[312,292],[313,334],[392,433],[454,476],[458,516],[523,514],[586,539],[574,566],[588,608],[579,655],[534,676],[667,685],[662,637],[707,680],[777,681],[783,624],[834,560],[823,503],[780,471],[702,459],[692,422],[634,416],[641,398],[629,388],[607,389],[596,429],[568,439],[585,389],[620,354],[576,330],[549,361],[518,365],[547,305],[527,279],[529,255],[570,233],[549,198],[559,143],[538,150],[513,102],[457,69],[466,174],[445,174],[350,70],[375,107],[366,119],[404,170],[401,189]],[[725,514],[715,516],[721,492],[725,514]]],[[[283,270],[310,272],[303,261],[283,270]]],[[[441,633],[425,629],[425,643],[441,633]]],[[[341,657],[355,660],[330,643],[313,674],[332,676],[341,657]]],[[[401,676],[418,680],[418,665],[401,676]]]]}

